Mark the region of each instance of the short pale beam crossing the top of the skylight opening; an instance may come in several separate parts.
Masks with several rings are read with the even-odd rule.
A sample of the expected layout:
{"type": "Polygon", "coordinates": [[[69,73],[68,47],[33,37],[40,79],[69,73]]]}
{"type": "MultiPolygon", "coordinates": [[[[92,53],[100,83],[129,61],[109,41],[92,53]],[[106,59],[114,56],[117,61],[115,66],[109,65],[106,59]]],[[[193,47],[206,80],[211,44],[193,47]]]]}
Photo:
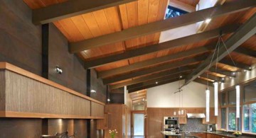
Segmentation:
{"type": "Polygon", "coordinates": [[[176,1],[176,0],[169,0],[169,6],[173,6],[175,8],[179,8],[183,11],[187,11],[189,13],[196,11],[196,7],[188,5],[188,4],[184,4],[181,1],[176,1]]]}

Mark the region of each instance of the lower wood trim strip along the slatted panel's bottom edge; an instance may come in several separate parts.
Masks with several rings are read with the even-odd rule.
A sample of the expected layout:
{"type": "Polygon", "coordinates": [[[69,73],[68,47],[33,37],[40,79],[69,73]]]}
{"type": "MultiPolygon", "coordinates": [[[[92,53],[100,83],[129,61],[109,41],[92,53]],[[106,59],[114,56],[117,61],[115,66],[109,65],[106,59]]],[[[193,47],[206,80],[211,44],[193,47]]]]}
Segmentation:
{"type": "Polygon", "coordinates": [[[58,114],[47,114],[47,113],[23,113],[23,112],[13,112],[13,111],[0,111],[0,117],[104,119],[104,117],[95,117],[95,116],[58,115],[58,114]]]}

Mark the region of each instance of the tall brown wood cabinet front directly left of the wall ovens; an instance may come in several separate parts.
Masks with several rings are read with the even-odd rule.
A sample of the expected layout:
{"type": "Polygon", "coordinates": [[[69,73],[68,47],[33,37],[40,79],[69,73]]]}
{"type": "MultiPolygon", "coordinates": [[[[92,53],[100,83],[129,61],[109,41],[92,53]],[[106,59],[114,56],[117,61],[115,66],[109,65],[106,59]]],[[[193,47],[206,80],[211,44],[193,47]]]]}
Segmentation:
{"type": "Polygon", "coordinates": [[[148,136],[149,138],[164,137],[161,131],[164,129],[164,113],[161,108],[148,108],[146,118],[148,121],[148,136]]]}

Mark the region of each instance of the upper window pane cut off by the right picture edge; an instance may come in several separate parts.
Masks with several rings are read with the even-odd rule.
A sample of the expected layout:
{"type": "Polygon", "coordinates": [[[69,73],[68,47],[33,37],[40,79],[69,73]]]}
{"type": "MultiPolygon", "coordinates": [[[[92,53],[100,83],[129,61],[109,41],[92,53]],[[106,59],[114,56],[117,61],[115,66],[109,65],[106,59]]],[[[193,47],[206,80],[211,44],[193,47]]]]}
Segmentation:
{"type": "Polygon", "coordinates": [[[256,81],[250,85],[245,86],[245,102],[256,101],[256,81]]]}

